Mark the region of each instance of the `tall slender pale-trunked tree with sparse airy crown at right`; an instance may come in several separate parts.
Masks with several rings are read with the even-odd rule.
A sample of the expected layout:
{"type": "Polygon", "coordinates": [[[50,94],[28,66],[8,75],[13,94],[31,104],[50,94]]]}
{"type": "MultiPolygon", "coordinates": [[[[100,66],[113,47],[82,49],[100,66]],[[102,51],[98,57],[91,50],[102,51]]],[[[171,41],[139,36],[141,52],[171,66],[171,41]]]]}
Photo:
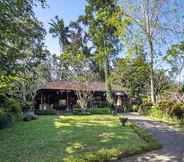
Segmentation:
{"type": "Polygon", "coordinates": [[[182,3],[175,5],[174,1],[169,0],[138,0],[123,1],[122,4],[125,14],[132,20],[127,30],[128,43],[133,43],[132,41],[143,43],[144,50],[148,53],[151,66],[150,94],[152,102],[155,103],[154,68],[156,59],[158,59],[159,53],[163,51],[163,45],[174,40],[170,39],[171,37],[181,36],[182,28],[179,26],[182,24],[180,19],[182,19],[183,14],[180,13],[179,8],[181,8],[182,3]],[[178,26],[178,28],[175,26],[178,26]]]}

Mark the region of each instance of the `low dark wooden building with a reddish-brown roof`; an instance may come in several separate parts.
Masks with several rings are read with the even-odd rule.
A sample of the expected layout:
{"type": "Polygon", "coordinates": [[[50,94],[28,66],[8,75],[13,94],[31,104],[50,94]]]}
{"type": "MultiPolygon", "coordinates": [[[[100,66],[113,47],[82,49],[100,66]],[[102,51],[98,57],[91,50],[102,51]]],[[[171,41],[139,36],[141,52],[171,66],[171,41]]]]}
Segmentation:
{"type": "MultiPolygon", "coordinates": [[[[35,96],[36,109],[46,109],[50,106],[60,111],[73,111],[77,104],[77,92],[91,92],[92,99],[89,106],[105,106],[106,88],[103,82],[53,81],[40,88],[35,96]],[[45,106],[45,108],[44,108],[45,106]]],[[[117,106],[121,106],[127,95],[118,86],[112,86],[113,98],[117,106]]]]}

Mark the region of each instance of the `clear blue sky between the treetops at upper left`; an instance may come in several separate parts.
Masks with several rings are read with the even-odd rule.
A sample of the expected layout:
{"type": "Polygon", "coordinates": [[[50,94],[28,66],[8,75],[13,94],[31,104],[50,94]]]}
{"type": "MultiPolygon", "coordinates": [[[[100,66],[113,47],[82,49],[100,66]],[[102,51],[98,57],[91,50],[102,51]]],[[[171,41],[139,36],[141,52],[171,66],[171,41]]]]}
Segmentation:
{"type": "Polygon", "coordinates": [[[35,14],[47,31],[45,44],[52,54],[59,53],[59,43],[57,38],[49,34],[49,22],[57,15],[63,18],[66,25],[70,21],[76,20],[84,13],[85,0],[47,0],[48,7],[36,7],[35,14]]]}

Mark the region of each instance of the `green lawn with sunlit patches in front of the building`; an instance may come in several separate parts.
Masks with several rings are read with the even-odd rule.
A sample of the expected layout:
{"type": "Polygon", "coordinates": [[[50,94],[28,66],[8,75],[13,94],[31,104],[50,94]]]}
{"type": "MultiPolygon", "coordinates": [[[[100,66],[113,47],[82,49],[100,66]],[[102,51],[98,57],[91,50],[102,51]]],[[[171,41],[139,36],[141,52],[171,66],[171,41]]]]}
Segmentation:
{"type": "MultiPolygon", "coordinates": [[[[144,133],[141,133],[144,134],[144,133]]],[[[0,130],[0,161],[92,162],[154,148],[118,116],[41,116],[0,130]]]]}

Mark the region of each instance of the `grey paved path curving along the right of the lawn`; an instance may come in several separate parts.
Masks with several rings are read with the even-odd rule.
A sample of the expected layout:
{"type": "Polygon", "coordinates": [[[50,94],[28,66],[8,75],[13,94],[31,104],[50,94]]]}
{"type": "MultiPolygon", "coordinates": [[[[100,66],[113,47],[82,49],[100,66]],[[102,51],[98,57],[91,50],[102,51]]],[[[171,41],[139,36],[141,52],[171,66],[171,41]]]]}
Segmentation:
{"type": "Polygon", "coordinates": [[[126,114],[130,120],[150,132],[162,149],[118,160],[117,162],[184,162],[184,132],[137,114],[126,114]]]}

